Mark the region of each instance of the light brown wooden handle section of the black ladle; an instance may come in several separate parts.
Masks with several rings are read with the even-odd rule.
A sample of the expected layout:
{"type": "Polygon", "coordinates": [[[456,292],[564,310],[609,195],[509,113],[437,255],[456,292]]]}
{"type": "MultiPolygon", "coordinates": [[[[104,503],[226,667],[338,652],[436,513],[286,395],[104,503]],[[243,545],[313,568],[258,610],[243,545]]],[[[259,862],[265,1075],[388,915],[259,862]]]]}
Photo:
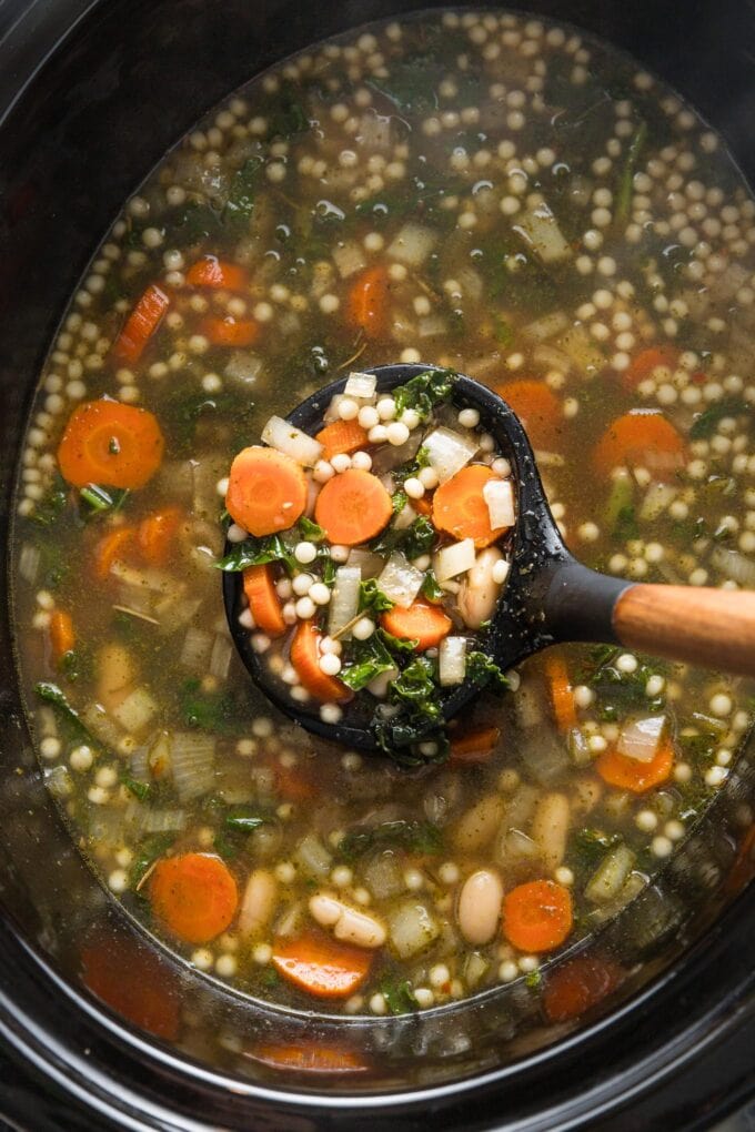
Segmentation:
{"type": "Polygon", "coordinates": [[[629,649],[755,676],[755,592],[633,585],[614,607],[614,632],[629,649]]]}

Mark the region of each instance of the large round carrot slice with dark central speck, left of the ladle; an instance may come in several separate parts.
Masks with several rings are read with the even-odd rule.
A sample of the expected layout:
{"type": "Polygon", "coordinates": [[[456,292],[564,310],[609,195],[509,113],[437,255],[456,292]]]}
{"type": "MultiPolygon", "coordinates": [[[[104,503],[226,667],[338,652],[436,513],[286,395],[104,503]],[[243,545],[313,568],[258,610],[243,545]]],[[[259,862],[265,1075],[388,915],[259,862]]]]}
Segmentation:
{"type": "Polygon", "coordinates": [[[68,418],[58,446],[60,474],[77,488],[143,488],[160,468],[165,440],[146,409],[85,401],[68,418]]]}

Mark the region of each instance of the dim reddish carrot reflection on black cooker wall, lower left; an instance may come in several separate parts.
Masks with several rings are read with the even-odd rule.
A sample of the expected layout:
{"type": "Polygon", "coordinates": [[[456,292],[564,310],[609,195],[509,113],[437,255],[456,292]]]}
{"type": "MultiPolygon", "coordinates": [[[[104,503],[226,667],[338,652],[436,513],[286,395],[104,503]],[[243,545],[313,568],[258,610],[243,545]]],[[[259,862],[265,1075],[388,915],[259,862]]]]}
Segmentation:
{"type": "Polygon", "coordinates": [[[126,936],[102,933],[81,950],[81,979],[92,994],[134,1026],[174,1041],[181,989],[166,962],[126,936]]]}

